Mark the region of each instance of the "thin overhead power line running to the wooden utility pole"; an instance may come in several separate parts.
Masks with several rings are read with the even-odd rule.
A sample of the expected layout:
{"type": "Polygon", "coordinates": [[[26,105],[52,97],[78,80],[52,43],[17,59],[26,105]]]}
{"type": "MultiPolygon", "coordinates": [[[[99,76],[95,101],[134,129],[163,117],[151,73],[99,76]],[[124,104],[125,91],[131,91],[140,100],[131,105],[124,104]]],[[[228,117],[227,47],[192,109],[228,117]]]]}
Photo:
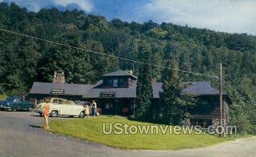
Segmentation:
{"type": "Polygon", "coordinates": [[[16,34],[16,35],[21,35],[21,36],[28,37],[28,38],[34,38],[34,39],[37,39],[37,40],[42,40],[44,42],[54,43],[56,45],[62,45],[62,46],[69,47],[69,48],[75,48],[77,50],[83,50],[83,51],[86,51],[86,52],[89,52],[89,53],[96,53],[96,54],[99,54],[99,55],[110,56],[110,57],[118,58],[118,59],[121,59],[121,60],[132,61],[133,63],[139,63],[139,64],[142,64],[142,65],[155,66],[157,68],[163,68],[163,69],[167,69],[167,70],[175,70],[175,71],[180,71],[182,73],[190,73],[190,74],[195,74],[195,75],[200,75],[200,76],[207,76],[207,77],[218,78],[219,79],[219,76],[214,76],[214,75],[209,75],[209,74],[202,74],[202,73],[195,73],[195,72],[192,72],[192,71],[185,71],[185,70],[179,70],[179,69],[173,69],[173,68],[167,68],[165,66],[153,65],[151,63],[145,63],[145,62],[142,62],[142,61],[130,60],[128,58],[122,58],[120,56],[108,55],[108,54],[105,54],[105,53],[94,52],[92,50],[87,50],[87,49],[84,49],[84,48],[73,47],[71,45],[66,45],[64,43],[58,43],[58,42],[53,42],[51,40],[46,40],[46,39],[43,39],[43,38],[32,37],[31,35],[21,34],[21,33],[13,32],[11,30],[6,30],[6,29],[0,29],[0,30],[2,30],[3,32],[11,33],[11,34],[16,34]]]}

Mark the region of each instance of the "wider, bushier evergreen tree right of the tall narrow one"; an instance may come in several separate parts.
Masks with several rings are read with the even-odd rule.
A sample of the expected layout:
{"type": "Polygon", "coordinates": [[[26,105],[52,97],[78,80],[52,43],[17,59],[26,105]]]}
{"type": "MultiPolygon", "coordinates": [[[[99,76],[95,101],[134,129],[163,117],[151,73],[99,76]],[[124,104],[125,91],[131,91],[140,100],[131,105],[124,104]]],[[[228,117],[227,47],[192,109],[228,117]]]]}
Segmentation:
{"type": "MultiPolygon", "coordinates": [[[[169,68],[178,69],[178,63],[175,60],[168,65],[169,68]]],[[[160,93],[160,122],[181,125],[182,120],[190,117],[188,109],[195,103],[194,99],[190,95],[182,94],[178,71],[165,70],[163,80],[163,92],[160,93]]]]}

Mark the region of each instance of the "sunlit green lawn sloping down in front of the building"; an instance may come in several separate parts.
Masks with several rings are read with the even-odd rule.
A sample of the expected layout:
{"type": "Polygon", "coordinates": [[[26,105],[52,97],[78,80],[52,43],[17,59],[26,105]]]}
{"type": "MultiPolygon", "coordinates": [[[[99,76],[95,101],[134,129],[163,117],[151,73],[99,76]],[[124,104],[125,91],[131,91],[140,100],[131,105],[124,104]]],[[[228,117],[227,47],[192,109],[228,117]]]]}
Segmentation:
{"type": "MultiPolygon", "coordinates": [[[[145,149],[145,150],[179,150],[184,148],[198,148],[202,146],[214,145],[230,139],[219,138],[214,135],[105,135],[102,132],[102,122],[121,122],[129,125],[152,125],[152,123],[143,123],[128,120],[124,117],[101,116],[90,117],[89,119],[55,119],[51,120],[49,125],[50,132],[71,135],[82,140],[94,141],[114,148],[124,149],[145,149]]],[[[109,128],[109,127],[107,127],[109,128]]],[[[106,129],[108,130],[108,129],[106,129]]]]}

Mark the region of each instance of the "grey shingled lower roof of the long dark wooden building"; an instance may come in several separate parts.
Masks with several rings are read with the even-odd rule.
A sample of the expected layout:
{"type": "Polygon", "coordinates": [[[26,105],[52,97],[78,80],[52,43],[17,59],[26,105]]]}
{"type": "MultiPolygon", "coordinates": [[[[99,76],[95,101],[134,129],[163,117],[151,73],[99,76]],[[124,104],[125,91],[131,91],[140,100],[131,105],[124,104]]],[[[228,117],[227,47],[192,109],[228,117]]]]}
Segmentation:
{"type": "MultiPolygon", "coordinates": [[[[99,81],[97,84],[101,84],[99,81]]],[[[64,89],[64,95],[82,96],[84,98],[100,97],[101,92],[115,92],[116,97],[134,98],[136,96],[137,81],[134,81],[127,88],[94,88],[97,84],[54,84],[35,82],[30,94],[51,94],[52,89],[64,89]]],[[[162,83],[152,83],[153,97],[159,98],[162,92],[162,83]]],[[[210,86],[210,82],[200,81],[190,83],[188,87],[182,89],[182,93],[194,95],[217,95],[219,90],[210,86]]],[[[63,94],[60,94],[63,95],[63,94]]]]}

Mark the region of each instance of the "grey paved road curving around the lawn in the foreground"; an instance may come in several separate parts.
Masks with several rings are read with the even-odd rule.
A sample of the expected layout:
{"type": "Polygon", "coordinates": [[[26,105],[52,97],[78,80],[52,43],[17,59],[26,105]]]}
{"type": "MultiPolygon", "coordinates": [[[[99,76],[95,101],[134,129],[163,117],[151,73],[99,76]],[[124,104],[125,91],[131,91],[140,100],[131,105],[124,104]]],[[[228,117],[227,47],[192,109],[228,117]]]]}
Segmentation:
{"type": "Polygon", "coordinates": [[[42,122],[31,112],[0,112],[0,156],[256,156],[256,137],[180,151],[119,150],[46,132],[42,122]]]}

